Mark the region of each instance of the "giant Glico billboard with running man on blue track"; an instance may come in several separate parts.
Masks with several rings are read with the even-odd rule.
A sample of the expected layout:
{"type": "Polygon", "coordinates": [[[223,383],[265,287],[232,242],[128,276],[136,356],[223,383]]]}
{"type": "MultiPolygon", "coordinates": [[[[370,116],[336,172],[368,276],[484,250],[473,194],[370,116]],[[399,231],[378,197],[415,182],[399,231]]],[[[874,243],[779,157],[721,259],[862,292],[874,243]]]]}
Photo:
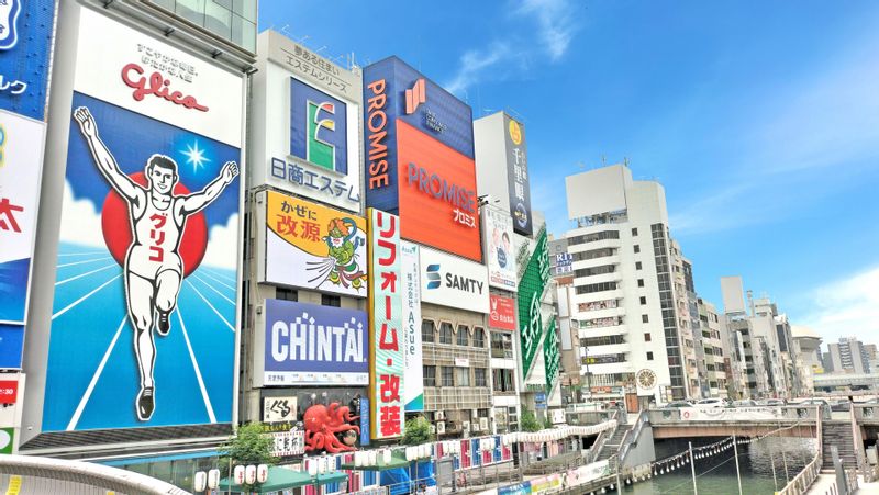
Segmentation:
{"type": "Polygon", "coordinates": [[[43,431],[230,423],[243,83],[80,9],[43,431]]]}

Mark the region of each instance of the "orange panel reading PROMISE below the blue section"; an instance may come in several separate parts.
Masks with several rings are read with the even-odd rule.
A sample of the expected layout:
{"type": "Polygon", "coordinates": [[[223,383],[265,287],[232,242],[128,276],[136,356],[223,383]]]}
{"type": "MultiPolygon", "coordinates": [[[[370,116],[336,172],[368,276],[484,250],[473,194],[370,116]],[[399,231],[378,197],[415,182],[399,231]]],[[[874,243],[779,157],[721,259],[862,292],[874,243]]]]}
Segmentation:
{"type": "Polygon", "coordinates": [[[476,164],[397,120],[400,236],[481,262],[476,164]]]}

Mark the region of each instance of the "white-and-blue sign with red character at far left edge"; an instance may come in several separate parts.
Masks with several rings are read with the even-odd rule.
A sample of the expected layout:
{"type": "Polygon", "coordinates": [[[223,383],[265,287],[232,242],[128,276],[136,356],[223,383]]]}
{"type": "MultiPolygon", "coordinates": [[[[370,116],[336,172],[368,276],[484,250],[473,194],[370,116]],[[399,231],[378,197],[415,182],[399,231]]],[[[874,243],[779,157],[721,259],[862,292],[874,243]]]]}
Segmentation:
{"type": "MultiPolygon", "coordinates": [[[[0,110],[0,323],[27,314],[45,124],[0,110]]],[[[24,331],[23,327],[19,327],[24,331]]],[[[21,350],[13,355],[21,355],[21,350]]],[[[18,367],[13,367],[18,368],[18,367]]]]}

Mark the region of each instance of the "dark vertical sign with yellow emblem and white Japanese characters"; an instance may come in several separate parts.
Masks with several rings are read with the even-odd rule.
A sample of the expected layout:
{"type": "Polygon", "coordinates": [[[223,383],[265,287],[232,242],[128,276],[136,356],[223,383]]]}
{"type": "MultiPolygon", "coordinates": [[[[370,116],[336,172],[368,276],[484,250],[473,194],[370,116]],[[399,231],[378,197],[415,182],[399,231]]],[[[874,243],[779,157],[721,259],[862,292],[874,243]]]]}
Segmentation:
{"type": "Polygon", "coordinates": [[[504,140],[507,142],[507,180],[510,190],[510,214],[513,217],[513,229],[523,236],[530,236],[531,223],[531,187],[528,185],[528,162],[525,147],[525,127],[503,114],[504,140]]]}

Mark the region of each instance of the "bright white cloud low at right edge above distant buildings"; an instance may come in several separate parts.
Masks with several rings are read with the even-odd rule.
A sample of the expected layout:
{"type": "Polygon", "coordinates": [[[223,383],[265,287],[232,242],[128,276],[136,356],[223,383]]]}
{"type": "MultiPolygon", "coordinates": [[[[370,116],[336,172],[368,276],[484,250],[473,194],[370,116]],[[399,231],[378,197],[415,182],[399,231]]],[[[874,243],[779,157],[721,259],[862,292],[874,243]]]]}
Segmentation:
{"type": "MultiPolygon", "coordinates": [[[[828,283],[811,292],[811,311],[802,324],[824,341],[879,335],[879,267],[828,283]]],[[[799,323],[799,322],[798,322],[799,323]]]]}

